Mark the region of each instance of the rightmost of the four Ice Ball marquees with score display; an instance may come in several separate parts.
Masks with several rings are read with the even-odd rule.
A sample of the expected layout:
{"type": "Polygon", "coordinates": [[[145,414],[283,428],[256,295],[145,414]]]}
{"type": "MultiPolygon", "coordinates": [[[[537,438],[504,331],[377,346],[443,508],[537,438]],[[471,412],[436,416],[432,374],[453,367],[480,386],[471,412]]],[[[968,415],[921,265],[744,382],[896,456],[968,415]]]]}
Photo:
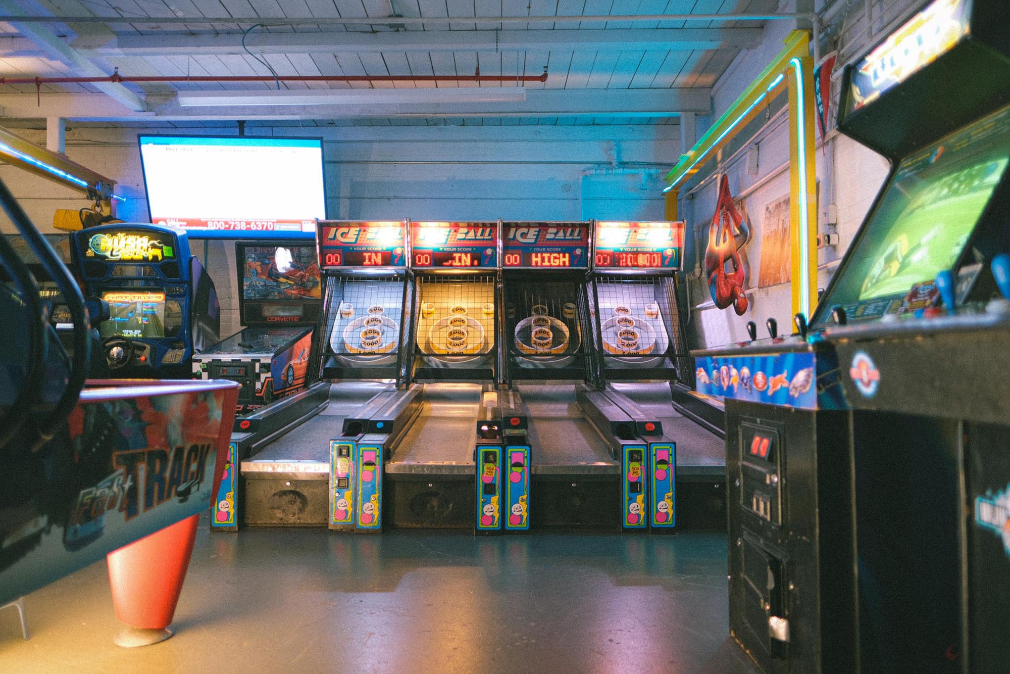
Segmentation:
{"type": "Polygon", "coordinates": [[[597,222],[596,266],[680,269],[684,222],[597,222]]]}

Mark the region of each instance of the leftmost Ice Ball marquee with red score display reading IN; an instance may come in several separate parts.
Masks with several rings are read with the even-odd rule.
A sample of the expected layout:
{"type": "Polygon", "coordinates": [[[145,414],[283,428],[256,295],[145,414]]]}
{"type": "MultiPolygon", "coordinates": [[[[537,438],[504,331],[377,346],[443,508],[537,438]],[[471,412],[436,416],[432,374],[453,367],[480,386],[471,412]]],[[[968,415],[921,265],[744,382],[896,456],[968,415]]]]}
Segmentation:
{"type": "Polygon", "coordinates": [[[320,220],[319,267],[404,267],[406,227],[402,221],[320,220]]]}

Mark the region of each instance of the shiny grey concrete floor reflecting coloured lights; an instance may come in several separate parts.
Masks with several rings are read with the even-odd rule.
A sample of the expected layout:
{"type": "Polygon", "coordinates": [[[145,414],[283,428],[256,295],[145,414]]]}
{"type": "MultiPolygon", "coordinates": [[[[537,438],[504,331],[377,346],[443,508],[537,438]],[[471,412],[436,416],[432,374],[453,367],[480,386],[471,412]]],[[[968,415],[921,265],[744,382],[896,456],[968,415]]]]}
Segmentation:
{"type": "Polygon", "coordinates": [[[0,671],[752,673],[726,540],[317,528],[197,537],[176,636],[127,650],[104,562],[0,613],[0,671]]]}

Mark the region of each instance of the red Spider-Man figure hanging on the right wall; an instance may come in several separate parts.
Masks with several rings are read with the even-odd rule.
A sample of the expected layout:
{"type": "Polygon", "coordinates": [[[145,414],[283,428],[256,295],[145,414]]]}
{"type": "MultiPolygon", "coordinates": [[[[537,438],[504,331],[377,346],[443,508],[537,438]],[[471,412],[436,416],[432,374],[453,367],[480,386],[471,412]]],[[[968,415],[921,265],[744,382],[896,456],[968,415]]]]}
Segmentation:
{"type": "Polygon", "coordinates": [[[748,304],[746,295],[743,294],[746,271],[740,261],[740,252],[750,242],[750,225],[736,209],[733,197],[729,194],[729,180],[723,174],[719,179],[715,215],[708,227],[705,275],[715,305],[725,309],[732,304],[738,316],[743,315],[748,304]],[[727,271],[727,266],[732,267],[732,271],[727,271]]]}

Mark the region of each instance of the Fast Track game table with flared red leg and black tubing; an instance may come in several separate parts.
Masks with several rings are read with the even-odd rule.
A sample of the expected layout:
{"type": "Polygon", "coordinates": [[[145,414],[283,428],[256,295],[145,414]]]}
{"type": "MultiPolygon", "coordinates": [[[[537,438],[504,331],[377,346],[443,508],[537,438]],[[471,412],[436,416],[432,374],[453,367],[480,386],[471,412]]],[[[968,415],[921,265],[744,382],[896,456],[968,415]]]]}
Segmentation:
{"type": "Polygon", "coordinates": [[[66,303],[73,331],[68,356],[31,271],[0,237],[0,368],[10,384],[0,395],[0,605],[104,555],[116,617],[131,625],[115,642],[163,641],[223,466],[235,385],[86,384],[81,291],[3,183],[0,205],[66,303]]]}

